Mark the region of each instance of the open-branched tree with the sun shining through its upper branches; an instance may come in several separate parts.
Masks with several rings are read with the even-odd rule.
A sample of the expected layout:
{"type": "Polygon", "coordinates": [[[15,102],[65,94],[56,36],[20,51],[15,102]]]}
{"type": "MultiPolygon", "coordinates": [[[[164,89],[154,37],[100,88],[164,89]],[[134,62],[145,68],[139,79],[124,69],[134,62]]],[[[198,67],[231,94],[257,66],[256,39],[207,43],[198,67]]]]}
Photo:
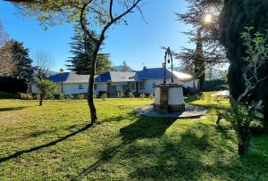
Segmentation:
{"type": "Polygon", "coordinates": [[[205,70],[214,70],[228,62],[225,52],[219,44],[218,15],[222,9],[222,0],[187,0],[188,11],[177,13],[179,21],[193,27],[185,32],[190,43],[195,43],[196,49],[182,47],[177,58],[182,60],[186,70],[200,79],[202,89],[205,81],[205,70]]]}

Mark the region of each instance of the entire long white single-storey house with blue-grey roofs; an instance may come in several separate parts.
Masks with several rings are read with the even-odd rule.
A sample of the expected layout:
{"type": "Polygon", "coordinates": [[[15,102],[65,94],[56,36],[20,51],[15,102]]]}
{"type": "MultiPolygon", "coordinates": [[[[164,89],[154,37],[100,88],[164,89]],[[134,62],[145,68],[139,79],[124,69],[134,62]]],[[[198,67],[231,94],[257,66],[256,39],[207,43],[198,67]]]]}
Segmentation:
{"type": "MultiPolygon", "coordinates": [[[[199,91],[199,80],[193,79],[191,75],[182,73],[180,71],[169,70],[166,73],[166,83],[174,83],[182,85],[188,92],[199,91]]],[[[94,94],[106,94],[108,97],[115,97],[119,92],[128,95],[129,92],[136,94],[155,94],[155,86],[163,84],[163,68],[147,69],[133,72],[122,71],[107,71],[101,75],[96,75],[94,84],[94,94]]],[[[59,85],[57,94],[62,93],[63,80],[63,94],[76,95],[88,93],[88,75],[77,75],[73,72],[65,72],[62,74],[55,74],[47,79],[54,81],[59,85]]],[[[38,88],[35,83],[30,85],[31,93],[38,93],[38,88]]]]}

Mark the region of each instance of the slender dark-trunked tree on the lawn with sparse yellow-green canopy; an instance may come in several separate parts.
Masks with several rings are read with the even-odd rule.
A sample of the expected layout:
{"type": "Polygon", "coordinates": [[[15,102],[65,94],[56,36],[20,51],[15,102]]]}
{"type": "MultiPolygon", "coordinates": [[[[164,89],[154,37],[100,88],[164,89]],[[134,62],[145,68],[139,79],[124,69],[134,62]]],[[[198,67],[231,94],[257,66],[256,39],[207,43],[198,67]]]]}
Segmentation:
{"type": "Polygon", "coordinates": [[[45,27],[53,26],[62,22],[80,21],[81,29],[87,37],[94,42],[93,53],[90,55],[90,77],[88,83],[88,107],[90,111],[91,124],[96,124],[96,107],[94,103],[94,77],[96,74],[97,54],[105,40],[108,29],[118,23],[122,18],[135,8],[141,12],[138,4],[141,0],[65,0],[46,1],[36,4],[20,4],[21,13],[26,16],[34,16],[45,27]],[[114,8],[115,4],[117,8],[114,8]],[[114,13],[116,9],[116,15],[114,13]],[[122,10],[121,12],[119,12],[122,10]],[[93,33],[93,30],[99,30],[93,33]]]}

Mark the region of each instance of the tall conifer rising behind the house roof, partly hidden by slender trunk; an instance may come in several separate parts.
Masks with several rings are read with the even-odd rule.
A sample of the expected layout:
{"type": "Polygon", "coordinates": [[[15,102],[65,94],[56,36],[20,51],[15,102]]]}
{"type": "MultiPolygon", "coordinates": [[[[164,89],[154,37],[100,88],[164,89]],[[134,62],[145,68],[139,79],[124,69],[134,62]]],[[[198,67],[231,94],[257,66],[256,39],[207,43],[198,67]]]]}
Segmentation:
{"type": "MultiPolygon", "coordinates": [[[[71,38],[71,53],[74,55],[71,64],[66,65],[69,70],[80,75],[90,74],[90,56],[93,52],[94,43],[86,38],[85,33],[79,27],[75,27],[75,35],[71,38]]],[[[109,53],[98,53],[96,61],[96,74],[104,73],[112,69],[112,62],[109,61],[109,53]]]]}

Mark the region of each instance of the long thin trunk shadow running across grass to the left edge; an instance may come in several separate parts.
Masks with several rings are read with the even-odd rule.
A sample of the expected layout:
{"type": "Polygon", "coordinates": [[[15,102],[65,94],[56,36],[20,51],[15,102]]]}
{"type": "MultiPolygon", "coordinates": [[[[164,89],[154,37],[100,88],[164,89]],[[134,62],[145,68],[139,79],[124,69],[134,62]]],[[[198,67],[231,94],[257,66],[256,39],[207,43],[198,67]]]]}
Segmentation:
{"type": "Polygon", "coordinates": [[[60,142],[63,142],[65,139],[70,138],[71,136],[76,136],[76,135],[79,134],[80,132],[83,132],[83,131],[87,130],[88,128],[91,128],[91,127],[92,127],[91,124],[90,124],[90,125],[86,125],[86,126],[84,126],[83,128],[80,128],[79,130],[77,130],[77,131],[75,131],[75,132],[73,132],[73,133],[71,133],[71,134],[69,134],[69,135],[67,135],[67,136],[63,136],[63,137],[61,137],[61,138],[59,138],[59,139],[57,139],[57,140],[54,140],[53,142],[50,142],[50,143],[48,143],[48,144],[42,144],[42,145],[38,145],[38,146],[36,146],[36,147],[30,148],[30,149],[28,149],[28,150],[23,150],[23,151],[15,152],[15,153],[13,153],[13,154],[7,156],[7,157],[0,158],[0,163],[1,163],[1,162],[4,162],[4,161],[6,161],[6,160],[11,160],[11,159],[17,158],[17,157],[21,156],[21,155],[24,154],[24,153],[35,152],[35,151],[38,151],[38,150],[40,150],[40,149],[43,149],[43,148],[52,146],[52,145],[54,145],[54,144],[58,144],[58,143],[60,143],[60,142]]]}

